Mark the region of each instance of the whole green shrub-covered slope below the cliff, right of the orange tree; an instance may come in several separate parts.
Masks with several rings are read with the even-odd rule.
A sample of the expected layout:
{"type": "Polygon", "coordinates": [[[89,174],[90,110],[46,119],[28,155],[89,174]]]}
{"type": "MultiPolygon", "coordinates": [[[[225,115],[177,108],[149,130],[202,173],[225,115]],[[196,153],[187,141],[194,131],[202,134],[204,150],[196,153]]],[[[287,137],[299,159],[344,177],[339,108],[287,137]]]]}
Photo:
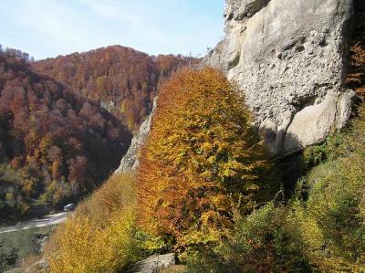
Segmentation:
{"type": "Polygon", "coordinates": [[[364,114],[361,106],[349,131],[308,148],[305,162],[318,166],[297,182],[296,194],[242,217],[220,251],[194,259],[193,272],[362,272],[364,114]]]}

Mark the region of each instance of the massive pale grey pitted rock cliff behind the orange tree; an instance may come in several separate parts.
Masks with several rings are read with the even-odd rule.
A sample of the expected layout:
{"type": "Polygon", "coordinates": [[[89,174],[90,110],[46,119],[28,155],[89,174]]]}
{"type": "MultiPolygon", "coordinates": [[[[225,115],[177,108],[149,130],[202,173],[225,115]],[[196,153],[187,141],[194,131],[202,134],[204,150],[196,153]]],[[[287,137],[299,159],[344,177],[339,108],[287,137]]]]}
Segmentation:
{"type": "Polygon", "coordinates": [[[323,141],[349,120],[353,0],[227,0],[225,37],[203,59],[245,91],[272,152],[323,141]]]}

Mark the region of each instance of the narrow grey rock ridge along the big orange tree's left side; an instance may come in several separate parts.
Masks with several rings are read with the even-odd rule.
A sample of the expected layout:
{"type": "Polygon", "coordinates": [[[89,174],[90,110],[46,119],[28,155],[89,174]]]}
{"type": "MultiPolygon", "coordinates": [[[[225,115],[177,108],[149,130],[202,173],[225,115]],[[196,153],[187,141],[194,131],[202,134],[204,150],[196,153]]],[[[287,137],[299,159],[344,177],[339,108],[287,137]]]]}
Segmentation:
{"type": "Polygon", "coordinates": [[[129,171],[134,171],[138,167],[138,153],[151,131],[151,122],[154,110],[156,110],[156,101],[157,97],[155,97],[155,99],[153,100],[151,114],[147,117],[146,121],[141,124],[140,131],[131,140],[130,149],[128,149],[127,153],[121,159],[120,167],[117,169],[117,171],[115,171],[115,173],[126,173],[129,171]]]}

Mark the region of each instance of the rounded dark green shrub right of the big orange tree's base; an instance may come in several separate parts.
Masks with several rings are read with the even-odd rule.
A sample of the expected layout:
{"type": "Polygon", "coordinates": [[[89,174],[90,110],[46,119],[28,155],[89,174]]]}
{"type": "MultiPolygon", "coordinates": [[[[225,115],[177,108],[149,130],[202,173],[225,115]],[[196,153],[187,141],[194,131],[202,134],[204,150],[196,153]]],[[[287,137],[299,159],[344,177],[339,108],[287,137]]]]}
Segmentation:
{"type": "Polygon", "coordinates": [[[308,272],[296,223],[286,205],[268,203],[237,223],[230,259],[242,272],[308,272]]]}

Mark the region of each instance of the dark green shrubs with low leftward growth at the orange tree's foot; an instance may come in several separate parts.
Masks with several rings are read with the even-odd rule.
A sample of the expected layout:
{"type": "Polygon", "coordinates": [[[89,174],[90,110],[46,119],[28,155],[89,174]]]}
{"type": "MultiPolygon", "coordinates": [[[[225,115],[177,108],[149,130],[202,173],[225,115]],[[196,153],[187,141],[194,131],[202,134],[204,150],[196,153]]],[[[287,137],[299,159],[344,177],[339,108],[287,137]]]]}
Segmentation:
{"type": "Polygon", "coordinates": [[[235,224],[224,246],[188,257],[190,272],[310,272],[287,205],[270,202],[235,224]]]}

